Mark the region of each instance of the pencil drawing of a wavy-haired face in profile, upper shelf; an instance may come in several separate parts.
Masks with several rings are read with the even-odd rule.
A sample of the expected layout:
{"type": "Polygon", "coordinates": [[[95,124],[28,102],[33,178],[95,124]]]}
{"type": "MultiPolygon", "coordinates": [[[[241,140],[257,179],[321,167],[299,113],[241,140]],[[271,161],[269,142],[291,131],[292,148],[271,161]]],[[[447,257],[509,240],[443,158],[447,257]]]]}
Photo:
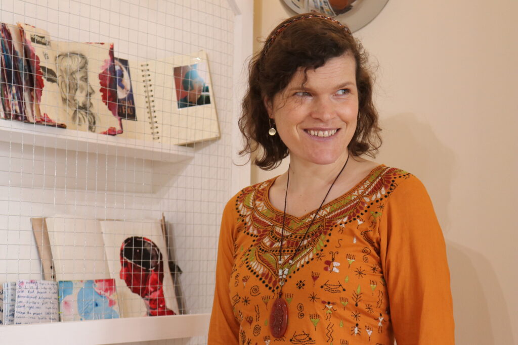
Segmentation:
{"type": "Polygon", "coordinates": [[[77,125],[88,124],[95,132],[97,114],[93,110],[91,96],[95,93],[88,81],[88,58],[80,53],[62,53],[56,57],[57,84],[63,105],[72,113],[77,125]]]}

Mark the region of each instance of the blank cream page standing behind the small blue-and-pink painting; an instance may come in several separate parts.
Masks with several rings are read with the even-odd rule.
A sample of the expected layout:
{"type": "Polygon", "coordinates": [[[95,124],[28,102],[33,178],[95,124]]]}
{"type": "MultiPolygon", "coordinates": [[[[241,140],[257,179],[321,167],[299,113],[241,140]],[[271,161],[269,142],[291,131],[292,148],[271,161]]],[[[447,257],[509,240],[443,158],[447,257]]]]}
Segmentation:
{"type": "Polygon", "coordinates": [[[98,220],[63,215],[46,222],[56,280],[110,278],[98,220]]]}

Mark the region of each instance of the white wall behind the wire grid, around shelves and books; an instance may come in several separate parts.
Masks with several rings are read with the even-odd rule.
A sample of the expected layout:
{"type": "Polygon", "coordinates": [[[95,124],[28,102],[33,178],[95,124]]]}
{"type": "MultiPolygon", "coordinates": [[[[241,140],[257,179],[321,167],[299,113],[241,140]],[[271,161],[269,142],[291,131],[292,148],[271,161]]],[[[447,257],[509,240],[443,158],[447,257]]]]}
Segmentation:
{"type": "MultiPolygon", "coordinates": [[[[0,138],[0,283],[41,278],[31,217],[67,213],[99,219],[159,219],[164,212],[171,224],[177,263],[183,269],[180,284],[186,308],[190,313],[210,312],[221,213],[231,192],[237,192],[233,191],[234,181],[240,181],[240,174],[247,169],[232,167],[233,151],[236,151],[233,147],[234,62],[247,49],[242,42],[234,46],[234,41],[244,40],[246,34],[243,29],[234,35],[235,11],[246,10],[242,2],[0,2],[2,22],[33,24],[49,31],[54,40],[114,42],[118,57],[146,61],[205,50],[221,130],[220,139],[194,144],[194,157],[176,164],[136,158],[131,152],[110,156],[77,153],[73,148],[73,131],[69,133],[71,140],[65,151],[64,147],[19,145],[9,140],[9,132],[0,130],[3,135],[0,138]],[[85,180],[82,184],[76,184],[75,171],[95,176],[92,181],[97,182],[97,188],[86,178],[82,178],[85,180]],[[116,172],[119,188],[111,189],[99,182],[99,175],[113,176],[116,172]],[[63,178],[74,183],[65,184],[63,178]],[[44,182],[35,183],[39,180],[44,182]]],[[[250,23],[251,13],[248,9],[239,19],[242,27],[247,26],[247,21],[250,23]]],[[[249,172],[246,172],[248,183],[249,172]]],[[[9,342],[0,340],[0,343],[4,341],[9,342]]],[[[190,341],[205,342],[204,337],[190,341]]],[[[166,340],[160,342],[165,343],[166,340]]],[[[176,344],[180,340],[167,343],[176,344]]]]}

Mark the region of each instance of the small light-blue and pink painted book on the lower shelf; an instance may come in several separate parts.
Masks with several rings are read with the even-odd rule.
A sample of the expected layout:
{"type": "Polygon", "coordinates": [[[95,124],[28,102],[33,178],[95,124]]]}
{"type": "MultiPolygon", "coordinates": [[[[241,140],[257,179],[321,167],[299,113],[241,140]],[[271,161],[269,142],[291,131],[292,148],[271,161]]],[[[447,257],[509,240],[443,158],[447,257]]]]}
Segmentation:
{"type": "Polygon", "coordinates": [[[61,321],[119,318],[113,279],[60,280],[58,294],[61,321]]]}

